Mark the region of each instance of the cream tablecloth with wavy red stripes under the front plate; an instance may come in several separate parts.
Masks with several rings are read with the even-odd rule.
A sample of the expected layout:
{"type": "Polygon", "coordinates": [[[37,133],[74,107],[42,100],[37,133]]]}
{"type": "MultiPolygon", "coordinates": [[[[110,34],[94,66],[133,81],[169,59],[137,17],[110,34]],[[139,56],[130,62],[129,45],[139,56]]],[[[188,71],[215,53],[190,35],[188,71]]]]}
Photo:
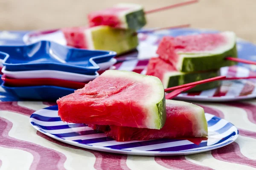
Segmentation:
{"type": "MultiPolygon", "coordinates": [[[[1,44],[22,42],[18,42],[18,38],[22,37],[24,32],[9,34],[11,36],[8,37],[6,33],[0,33],[1,44]]],[[[244,58],[248,59],[249,56],[253,59],[254,54],[251,54],[256,54],[256,48],[252,50],[254,51],[245,51],[248,55],[244,55],[244,58]]],[[[256,168],[256,99],[242,102],[195,103],[202,106],[205,112],[236,125],[239,128],[239,138],[232,144],[205,153],[162,157],[104,153],[58,142],[36,131],[29,124],[29,116],[34,111],[55,103],[18,101],[3,89],[0,89],[0,100],[0,170],[256,168]]]]}

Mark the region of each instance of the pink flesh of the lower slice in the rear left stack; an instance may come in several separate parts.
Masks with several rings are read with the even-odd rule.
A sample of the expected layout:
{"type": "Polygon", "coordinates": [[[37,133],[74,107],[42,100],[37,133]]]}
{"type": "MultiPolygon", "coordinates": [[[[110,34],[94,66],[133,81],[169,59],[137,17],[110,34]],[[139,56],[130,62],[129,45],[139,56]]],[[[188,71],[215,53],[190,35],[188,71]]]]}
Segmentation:
{"type": "Polygon", "coordinates": [[[84,36],[84,30],[87,27],[63,28],[62,32],[67,41],[67,45],[76,48],[87,48],[87,41],[84,36]]]}

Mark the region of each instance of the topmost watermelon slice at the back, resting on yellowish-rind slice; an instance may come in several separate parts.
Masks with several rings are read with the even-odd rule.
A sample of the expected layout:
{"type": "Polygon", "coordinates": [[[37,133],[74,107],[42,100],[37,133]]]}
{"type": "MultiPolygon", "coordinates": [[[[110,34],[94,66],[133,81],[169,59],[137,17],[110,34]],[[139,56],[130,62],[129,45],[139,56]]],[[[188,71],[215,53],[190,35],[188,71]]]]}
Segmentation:
{"type": "Polygon", "coordinates": [[[89,25],[113,28],[140,29],[146,25],[143,7],[137,4],[118,4],[113,8],[88,14],[89,25]]]}

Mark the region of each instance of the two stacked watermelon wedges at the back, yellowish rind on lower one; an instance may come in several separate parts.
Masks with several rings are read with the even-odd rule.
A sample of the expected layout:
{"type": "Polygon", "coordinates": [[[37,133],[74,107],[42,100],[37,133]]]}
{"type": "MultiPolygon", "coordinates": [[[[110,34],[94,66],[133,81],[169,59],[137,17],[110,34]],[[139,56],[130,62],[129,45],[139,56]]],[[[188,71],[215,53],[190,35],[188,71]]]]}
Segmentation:
{"type": "Polygon", "coordinates": [[[143,7],[137,4],[117,4],[113,8],[91,12],[88,21],[89,27],[61,30],[67,45],[126,53],[137,47],[136,31],[146,24],[143,7]]]}

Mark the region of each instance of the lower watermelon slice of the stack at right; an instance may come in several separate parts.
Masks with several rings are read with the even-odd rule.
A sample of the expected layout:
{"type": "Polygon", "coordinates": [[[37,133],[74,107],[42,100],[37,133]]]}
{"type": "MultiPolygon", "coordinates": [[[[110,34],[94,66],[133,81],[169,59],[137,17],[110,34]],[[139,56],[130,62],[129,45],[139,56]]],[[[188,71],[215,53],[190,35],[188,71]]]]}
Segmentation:
{"type": "MultiPolygon", "coordinates": [[[[170,88],[177,85],[183,85],[190,82],[209,79],[220,76],[219,70],[204,71],[204,72],[180,72],[170,63],[165,62],[161,58],[151,58],[148,62],[146,75],[158,77],[164,88],[170,88]]],[[[188,92],[204,91],[211,88],[216,88],[221,85],[220,81],[208,82],[197,85],[188,92]]]]}

